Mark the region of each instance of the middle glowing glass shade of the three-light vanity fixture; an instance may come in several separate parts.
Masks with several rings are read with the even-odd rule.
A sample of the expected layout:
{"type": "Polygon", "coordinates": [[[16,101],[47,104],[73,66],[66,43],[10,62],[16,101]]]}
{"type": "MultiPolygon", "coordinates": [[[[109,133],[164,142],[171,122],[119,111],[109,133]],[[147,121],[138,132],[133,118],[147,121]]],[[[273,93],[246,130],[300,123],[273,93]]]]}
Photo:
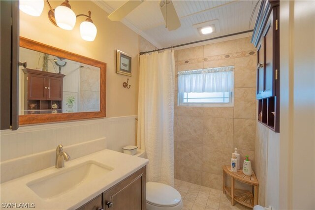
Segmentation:
{"type": "Polygon", "coordinates": [[[66,6],[57,6],[55,9],[55,19],[57,26],[64,30],[72,30],[77,20],[72,9],[66,6]]]}

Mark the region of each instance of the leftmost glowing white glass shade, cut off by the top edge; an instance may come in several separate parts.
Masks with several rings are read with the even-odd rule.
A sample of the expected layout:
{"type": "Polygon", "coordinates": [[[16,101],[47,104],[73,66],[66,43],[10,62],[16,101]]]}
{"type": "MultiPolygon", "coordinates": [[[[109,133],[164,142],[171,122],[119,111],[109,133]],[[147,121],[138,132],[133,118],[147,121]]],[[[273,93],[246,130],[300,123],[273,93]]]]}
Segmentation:
{"type": "Polygon", "coordinates": [[[20,0],[19,7],[22,12],[38,17],[44,9],[44,0],[20,0]]]}

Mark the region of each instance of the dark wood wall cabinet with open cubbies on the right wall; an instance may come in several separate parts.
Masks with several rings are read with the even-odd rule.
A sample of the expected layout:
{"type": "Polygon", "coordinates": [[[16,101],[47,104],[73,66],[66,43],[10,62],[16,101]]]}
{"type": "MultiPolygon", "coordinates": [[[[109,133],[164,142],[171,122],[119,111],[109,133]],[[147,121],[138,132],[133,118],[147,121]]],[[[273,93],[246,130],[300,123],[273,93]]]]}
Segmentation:
{"type": "Polygon", "coordinates": [[[275,132],[280,128],[279,0],[263,0],[252,35],[257,48],[258,121],[275,132]]]}

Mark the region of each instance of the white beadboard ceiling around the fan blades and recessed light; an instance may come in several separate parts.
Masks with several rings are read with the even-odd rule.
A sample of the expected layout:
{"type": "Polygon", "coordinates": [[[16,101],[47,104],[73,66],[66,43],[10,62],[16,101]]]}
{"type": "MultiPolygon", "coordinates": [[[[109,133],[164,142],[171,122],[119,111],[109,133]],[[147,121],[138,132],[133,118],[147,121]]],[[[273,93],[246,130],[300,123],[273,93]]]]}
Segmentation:
{"type": "MultiPolygon", "coordinates": [[[[94,2],[111,13],[126,0],[94,2]]],[[[158,3],[159,0],[145,0],[121,21],[158,48],[252,30],[260,6],[259,2],[250,24],[257,0],[173,0],[182,26],[168,31],[158,3]],[[197,28],[209,24],[214,24],[217,31],[210,35],[200,35],[197,28]]]]}

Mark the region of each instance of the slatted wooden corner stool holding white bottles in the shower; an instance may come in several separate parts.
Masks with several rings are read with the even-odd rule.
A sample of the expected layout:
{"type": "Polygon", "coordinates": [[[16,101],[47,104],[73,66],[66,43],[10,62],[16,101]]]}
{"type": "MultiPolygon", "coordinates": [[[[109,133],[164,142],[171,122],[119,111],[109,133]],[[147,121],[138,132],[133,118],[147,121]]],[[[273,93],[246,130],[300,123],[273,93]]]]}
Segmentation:
{"type": "Polygon", "coordinates": [[[253,208],[258,205],[258,180],[252,171],[252,176],[246,176],[243,174],[243,170],[237,170],[237,172],[230,171],[230,166],[222,166],[223,168],[223,193],[227,193],[231,197],[231,204],[234,206],[234,201],[253,208]],[[231,187],[225,186],[225,174],[231,177],[231,187]],[[234,180],[247,183],[253,186],[254,192],[234,188],[234,180]]]}

